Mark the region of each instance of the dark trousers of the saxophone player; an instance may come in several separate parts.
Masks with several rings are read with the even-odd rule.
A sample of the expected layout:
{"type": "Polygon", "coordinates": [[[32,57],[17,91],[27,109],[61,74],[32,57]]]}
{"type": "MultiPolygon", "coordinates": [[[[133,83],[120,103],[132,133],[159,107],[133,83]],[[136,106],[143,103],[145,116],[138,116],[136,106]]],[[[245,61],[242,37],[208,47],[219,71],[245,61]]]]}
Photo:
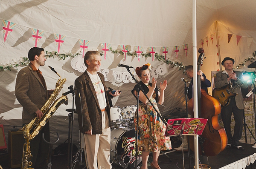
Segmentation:
{"type": "Polygon", "coordinates": [[[50,127],[49,122],[41,129],[38,135],[35,136],[33,140],[30,140],[30,151],[32,154],[32,168],[37,168],[38,166],[46,164],[46,160],[49,152],[49,144],[46,143],[42,138],[42,133],[44,133],[44,138],[48,142],[50,141],[50,127]]]}

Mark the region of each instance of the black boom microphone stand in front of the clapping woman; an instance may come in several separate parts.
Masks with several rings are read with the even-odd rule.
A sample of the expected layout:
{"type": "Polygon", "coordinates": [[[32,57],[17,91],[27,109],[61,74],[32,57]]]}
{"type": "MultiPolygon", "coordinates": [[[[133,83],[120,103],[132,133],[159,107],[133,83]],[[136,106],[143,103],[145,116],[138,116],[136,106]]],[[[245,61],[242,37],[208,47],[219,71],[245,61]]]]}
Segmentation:
{"type": "MultiPolygon", "coordinates": [[[[125,67],[127,69],[127,71],[131,74],[129,67],[125,67]]],[[[167,122],[165,119],[163,119],[163,117],[160,115],[160,113],[157,111],[157,109],[154,107],[153,103],[149,100],[148,96],[146,95],[146,93],[144,92],[144,90],[142,89],[142,87],[140,86],[140,84],[138,83],[138,81],[135,79],[135,77],[131,74],[131,77],[133,78],[133,80],[137,83],[137,85],[139,86],[139,91],[143,92],[143,94],[145,95],[145,97],[148,99],[148,102],[151,104],[151,106],[154,108],[154,110],[157,112],[157,115],[160,117],[160,119],[163,121],[163,123],[167,126],[167,122]]],[[[137,91],[138,92],[138,91],[137,91]]],[[[139,92],[138,92],[139,93],[139,92]]],[[[137,129],[136,129],[136,133],[135,133],[135,144],[136,144],[136,148],[135,148],[135,168],[137,169],[137,158],[138,158],[138,128],[139,128],[139,95],[137,95],[137,129]]]]}

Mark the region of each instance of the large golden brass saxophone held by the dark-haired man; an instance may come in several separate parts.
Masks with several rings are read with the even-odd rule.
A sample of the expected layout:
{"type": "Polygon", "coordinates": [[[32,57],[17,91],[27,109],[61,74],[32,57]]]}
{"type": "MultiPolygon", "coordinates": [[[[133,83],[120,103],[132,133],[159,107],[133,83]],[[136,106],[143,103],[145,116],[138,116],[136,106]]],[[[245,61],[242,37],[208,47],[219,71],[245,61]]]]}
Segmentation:
{"type": "MultiPolygon", "coordinates": [[[[54,68],[49,66],[49,68],[58,74],[54,68]]],[[[44,106],[40,109],[43,113],[42,117],[35,117],[33,120],[30,121],[29,124],[25,124],[23,126],[23,136],[25,138],[25,143],[23,145],[23,157],[22,157],[22,167],[21,169],[33,169],[29,166],[32,165],[32,162],[30,161],[30,158],[32,158],[32,155],[30,153],[30,146],[29,146],[29,140],[32,140],[35,138],[36,135],[41,131],[41,129],[45,126],[45,124],[48,122],[49,118],[52,117],[52,115],[55,113],[55,111],[58,109],[61,104],[68,104],[67,96],[62,95],[61,97],[57,98],[59,92],[63,88],[63,85],[66,82],[66,79],[61,79],[61,76],[55,85],[55,89],[52,92],[52,95],[47,100],[47,102],[44,104],[44,106]]]]}

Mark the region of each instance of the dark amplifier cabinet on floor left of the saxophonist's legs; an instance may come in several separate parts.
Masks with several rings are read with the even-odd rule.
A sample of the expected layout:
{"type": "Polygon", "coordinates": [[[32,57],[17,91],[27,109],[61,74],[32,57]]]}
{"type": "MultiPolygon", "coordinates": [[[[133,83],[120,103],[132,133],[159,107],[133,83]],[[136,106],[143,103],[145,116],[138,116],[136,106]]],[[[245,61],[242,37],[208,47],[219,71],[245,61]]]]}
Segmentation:
{"type": "Polygon", "coordinates": [[[12,132],[9,130],[8,153],[11,168],[21,167],[24,141],[23,131],[12,132]]]}

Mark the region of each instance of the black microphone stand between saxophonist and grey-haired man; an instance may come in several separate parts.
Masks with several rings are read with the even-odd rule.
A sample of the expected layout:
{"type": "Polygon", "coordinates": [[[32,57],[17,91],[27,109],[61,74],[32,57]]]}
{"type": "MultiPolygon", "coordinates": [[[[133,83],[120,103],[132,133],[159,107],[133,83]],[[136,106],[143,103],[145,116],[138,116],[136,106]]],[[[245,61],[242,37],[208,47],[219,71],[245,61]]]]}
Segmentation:
{"type": "Polygon", "coordinates": [[[66,92],[65,95],[72,93],[73,102],[72,102],[72,113],[68,114],[68,148],[67,148],[67,168],[70,169],[72,164],[72,152],[73,152],[73,123],[74,123],[74,99],[75,99],[75,90],[73,85],[69,86],[67,89],[70,89],[69,92],[66,92]]]}

